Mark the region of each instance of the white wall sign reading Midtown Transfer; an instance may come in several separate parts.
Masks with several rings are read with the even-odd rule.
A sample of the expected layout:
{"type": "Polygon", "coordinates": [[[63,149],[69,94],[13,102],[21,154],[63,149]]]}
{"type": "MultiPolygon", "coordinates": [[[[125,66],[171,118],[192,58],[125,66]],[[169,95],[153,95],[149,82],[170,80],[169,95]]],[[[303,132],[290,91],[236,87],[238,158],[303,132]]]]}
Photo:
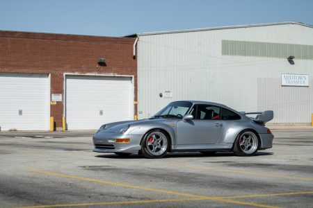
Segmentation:
{"type": "Polygon", "coordinates": [[[309,87],[309,76],[306,74],[282,73],[282,86],[309,87]]]}

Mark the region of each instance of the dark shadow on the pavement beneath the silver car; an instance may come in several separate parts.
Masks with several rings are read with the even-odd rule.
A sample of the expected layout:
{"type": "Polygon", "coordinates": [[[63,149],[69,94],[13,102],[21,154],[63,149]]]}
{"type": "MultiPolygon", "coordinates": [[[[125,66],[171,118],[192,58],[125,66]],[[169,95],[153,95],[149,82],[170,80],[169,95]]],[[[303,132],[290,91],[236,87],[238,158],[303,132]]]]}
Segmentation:
{"type": "MultiPolygon", "coordinates": [[[[264,152],[259,152],[256,155],[250,156],[250,157],[257,157],[257,156],[266,156],[266,155],[273,155],[274,153],[264,153],[264,152]]],[[[95,157],[100,157],[100,158],[110,158],[110,159],[146,159],[143,157],[143,155],[138,155],[138,154],[131,154],[128,156],[119,156],[115,155],[114,153],[106,153],[105,155],[95,155],[95,157]]],[[[163,158],[161,159],[166,159],[166,158],[175,158],[175,157],[237,157],[234,155],[234,153],[216,153],[214,155],[203,155],[201,153],[168,153],[166,154],[163,158]]]]}

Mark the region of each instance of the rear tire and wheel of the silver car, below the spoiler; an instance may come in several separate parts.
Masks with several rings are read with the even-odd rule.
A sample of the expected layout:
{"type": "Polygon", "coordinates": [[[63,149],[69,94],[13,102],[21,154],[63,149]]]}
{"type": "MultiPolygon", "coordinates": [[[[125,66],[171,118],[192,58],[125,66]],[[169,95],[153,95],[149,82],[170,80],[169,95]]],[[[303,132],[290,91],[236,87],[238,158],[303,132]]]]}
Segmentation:
{"type": "Polygon", "coordinates": [[[234,142],[234,155],[252,156],[259,149],[259,137],[252,130],[244,130],[241,132],[234,142]]]}

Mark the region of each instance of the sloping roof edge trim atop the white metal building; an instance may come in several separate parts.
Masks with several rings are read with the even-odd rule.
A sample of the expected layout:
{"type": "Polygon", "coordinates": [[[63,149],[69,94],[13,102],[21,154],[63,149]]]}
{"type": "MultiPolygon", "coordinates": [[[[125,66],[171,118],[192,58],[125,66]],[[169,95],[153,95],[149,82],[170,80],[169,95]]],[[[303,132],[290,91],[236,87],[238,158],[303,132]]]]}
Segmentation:
{"type": "Polygon", "coordinates": [[[177,30],[177,31],[159,31],[159,32],[149,32],[149,33],[136,33],[133,35],[127,35],[125,37],[138,37],[138,36],[144,36],[144,35],[163,35],[163,34],[170,34],[170,33],[191,33],[191,32],[198,32],[198,31],[215,31],[215,30],[224,30],[224,29],[233,29],[233,28],[251,28],[251,27],[259,27],[259,26],[275,26],[275,25],[282,25],[282,24],[297,24],[300,26],[313,28],[313,26],[310,24],[304,24],[304,23],[296,22],[296,21],[282,21],[282,22],[263,23],[263,24],[246,24],[246,25],[237,25],[237,26],[221,26],[221,27],[213,27],[213,28],[195,28],[195,29],[177,30]]]}

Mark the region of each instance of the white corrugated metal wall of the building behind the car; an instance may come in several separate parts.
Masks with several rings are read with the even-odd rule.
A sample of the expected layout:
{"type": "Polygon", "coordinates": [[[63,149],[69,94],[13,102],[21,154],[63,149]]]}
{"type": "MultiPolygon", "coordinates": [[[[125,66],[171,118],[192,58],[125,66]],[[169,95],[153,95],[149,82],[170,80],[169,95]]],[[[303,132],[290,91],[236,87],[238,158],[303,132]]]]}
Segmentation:
{"type": "MultiPolygon", "coordinates": [[[[299,24],[138,35],[138,118],[177,100],[224,103],[239,111],[274,110],[272,123],[310,123],[313,60],[222,55],[222,40],[313,46],[299,24]],[[309,75],[310,87],[281,87],[282,73],[309,75]],[[170,91],[171,98],[160,93],[170,91]]],[[[293,55],[293,54],[290,54],[293,55]]]]}

